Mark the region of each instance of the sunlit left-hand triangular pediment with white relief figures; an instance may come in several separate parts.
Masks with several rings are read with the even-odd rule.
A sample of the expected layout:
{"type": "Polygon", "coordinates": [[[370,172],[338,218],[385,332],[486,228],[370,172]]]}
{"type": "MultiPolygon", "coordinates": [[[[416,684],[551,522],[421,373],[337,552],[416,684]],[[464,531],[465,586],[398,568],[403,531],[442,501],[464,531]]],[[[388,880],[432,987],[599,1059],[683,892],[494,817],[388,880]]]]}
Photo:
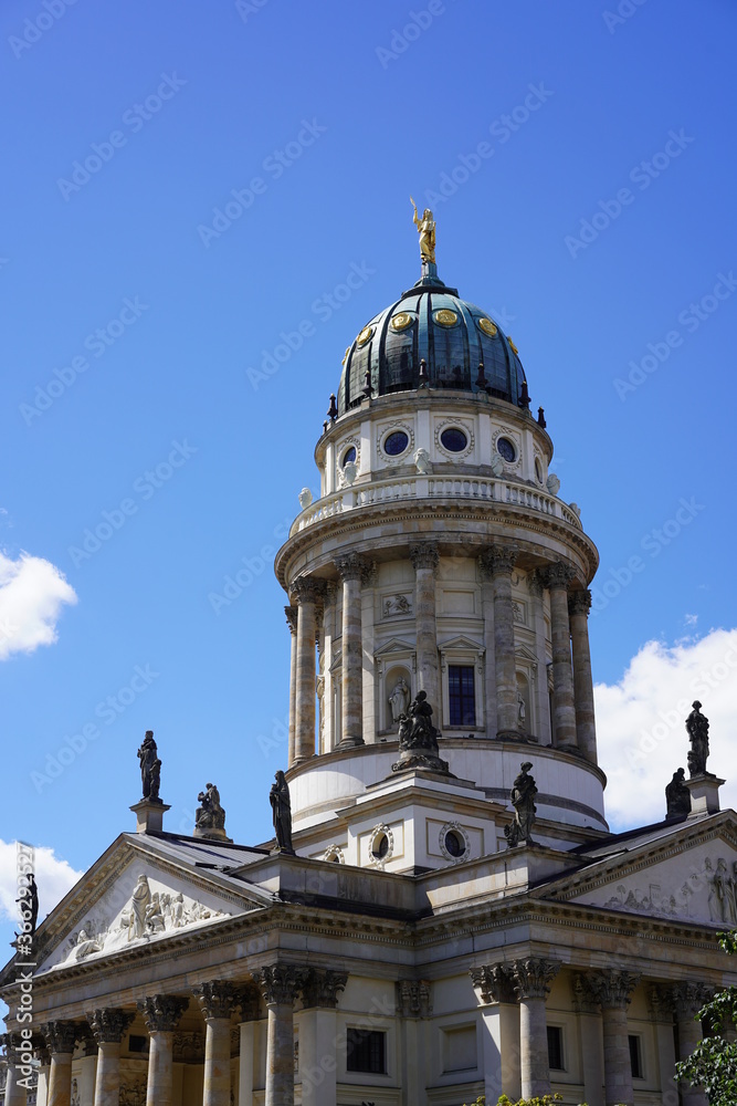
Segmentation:
{"type": "Polygon", "coordinates": [[[39,931],[39,971],[155,945],[265,905],[253,889],[167,863],[124,841],[52,911],[39,931]],[[222,883],[222,881],[221,881],[222,883]]]}

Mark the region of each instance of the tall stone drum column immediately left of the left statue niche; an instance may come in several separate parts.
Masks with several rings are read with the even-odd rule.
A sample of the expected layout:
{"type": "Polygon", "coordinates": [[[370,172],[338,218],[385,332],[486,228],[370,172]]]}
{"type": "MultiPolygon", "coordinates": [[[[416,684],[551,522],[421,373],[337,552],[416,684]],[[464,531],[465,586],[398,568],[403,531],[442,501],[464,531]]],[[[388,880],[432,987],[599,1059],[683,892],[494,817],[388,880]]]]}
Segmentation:
{"type": "Polygon", "coordinates": [[[364,639],[361,637],[361,574],[367,563],[358,553],[335,561],[343,586],[341,691],[343,738],[340,745],[364,744],[364,639]]]}

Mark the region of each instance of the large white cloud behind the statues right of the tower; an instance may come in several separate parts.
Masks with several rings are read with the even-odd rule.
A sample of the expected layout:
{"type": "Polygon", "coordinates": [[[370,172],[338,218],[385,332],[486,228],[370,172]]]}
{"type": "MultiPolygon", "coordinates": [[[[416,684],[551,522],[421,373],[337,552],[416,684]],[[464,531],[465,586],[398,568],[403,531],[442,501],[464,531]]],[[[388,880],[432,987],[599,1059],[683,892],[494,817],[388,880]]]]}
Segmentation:
{"type": "Polygon", "coordinates": [[[612,686],[594,688],[599,763],[614,831],[665,816],[665,785],[685,768],[685,720],[694,699],[709,722],[707,770],[727,778],[722,807],[737,806],[737,629],[714,629],[674,646],[647,641],[612,686]]]}

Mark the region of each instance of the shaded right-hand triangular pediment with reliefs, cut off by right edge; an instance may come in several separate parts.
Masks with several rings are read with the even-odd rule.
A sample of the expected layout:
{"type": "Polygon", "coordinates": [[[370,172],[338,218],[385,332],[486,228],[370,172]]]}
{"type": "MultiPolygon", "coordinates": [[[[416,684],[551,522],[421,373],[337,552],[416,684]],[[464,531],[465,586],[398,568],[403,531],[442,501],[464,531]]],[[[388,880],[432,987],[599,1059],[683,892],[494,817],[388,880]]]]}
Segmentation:
{"type": "Polygon", "coordinates": [[[737,837],[722,832],[676,834],[653,855],[638,852],[579,872],[556,899],[623,914],[737,927],[737,837]],[[685,838],[685,839],[684,839],[685,838]]]}

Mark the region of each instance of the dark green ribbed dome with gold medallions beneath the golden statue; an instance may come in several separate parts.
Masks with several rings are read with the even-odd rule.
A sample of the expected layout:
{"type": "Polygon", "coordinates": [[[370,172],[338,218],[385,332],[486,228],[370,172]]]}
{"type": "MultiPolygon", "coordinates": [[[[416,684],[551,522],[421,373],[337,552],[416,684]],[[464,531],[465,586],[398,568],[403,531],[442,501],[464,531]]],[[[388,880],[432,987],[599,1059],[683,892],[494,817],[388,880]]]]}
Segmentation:
{"type": "Polygon", "coordinates": [[[428,263],[417,284],[375,315],[346,351],[338,415],[358,406],[369,384],[376,398],[423,383],[431,388],[486,392],[515,405],[527,394],[512,340],[488,312],[462,300],[457,289],[448,288],[436,276],[435,265],[428,263]]]}

